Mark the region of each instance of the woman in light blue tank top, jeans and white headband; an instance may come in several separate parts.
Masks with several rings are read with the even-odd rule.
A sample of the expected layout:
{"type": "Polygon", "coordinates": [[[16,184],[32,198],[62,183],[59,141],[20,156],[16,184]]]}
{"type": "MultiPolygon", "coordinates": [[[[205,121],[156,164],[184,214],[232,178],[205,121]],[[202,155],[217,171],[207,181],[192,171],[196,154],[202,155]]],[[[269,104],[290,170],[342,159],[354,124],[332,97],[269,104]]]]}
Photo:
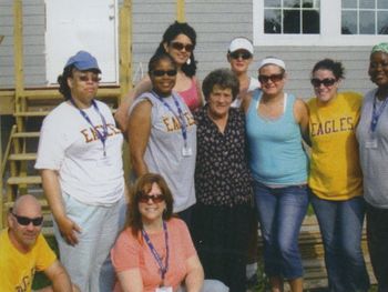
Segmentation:
{"type": "Polygon", "coordinates": [[[251,170],[264,240],[265,273],[272,291],[283,291],[284,279],[293,292],[303,291],[298,234],[308,205],[306,104],[284,92],[286,66],[265,58],[258,67],[262,91],[243,101],[251,170]]]}

